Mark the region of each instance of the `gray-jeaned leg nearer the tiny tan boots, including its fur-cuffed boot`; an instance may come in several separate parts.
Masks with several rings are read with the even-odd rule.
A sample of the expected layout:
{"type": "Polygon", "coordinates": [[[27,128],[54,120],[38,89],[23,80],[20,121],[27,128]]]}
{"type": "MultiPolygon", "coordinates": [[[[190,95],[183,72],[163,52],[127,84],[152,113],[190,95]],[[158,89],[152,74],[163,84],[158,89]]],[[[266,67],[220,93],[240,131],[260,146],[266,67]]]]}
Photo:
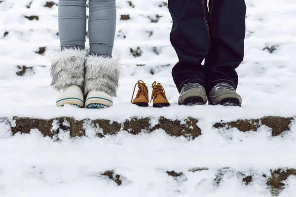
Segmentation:
{"type": "Polygon", "coordinates": [[[89,0],[90,55],[85,62],[85,106],[112,105],[116,96],[121,65],[112,59],[116,27],[115,0],[89,0]]]}

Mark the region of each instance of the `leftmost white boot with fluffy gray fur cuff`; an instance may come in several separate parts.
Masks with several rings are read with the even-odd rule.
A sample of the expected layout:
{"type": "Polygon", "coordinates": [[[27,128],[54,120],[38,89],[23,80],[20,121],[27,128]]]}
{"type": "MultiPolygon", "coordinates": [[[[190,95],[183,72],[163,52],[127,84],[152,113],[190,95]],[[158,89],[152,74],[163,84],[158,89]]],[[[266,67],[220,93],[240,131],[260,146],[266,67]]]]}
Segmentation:
{"type": "Polygon", "coordinates": [[[57,106],[84,106],[82,87],[86,56],[87,50],[63,49],[51,58],[51,86],[58,91],[64,90],[56,101],[57,106]]]}

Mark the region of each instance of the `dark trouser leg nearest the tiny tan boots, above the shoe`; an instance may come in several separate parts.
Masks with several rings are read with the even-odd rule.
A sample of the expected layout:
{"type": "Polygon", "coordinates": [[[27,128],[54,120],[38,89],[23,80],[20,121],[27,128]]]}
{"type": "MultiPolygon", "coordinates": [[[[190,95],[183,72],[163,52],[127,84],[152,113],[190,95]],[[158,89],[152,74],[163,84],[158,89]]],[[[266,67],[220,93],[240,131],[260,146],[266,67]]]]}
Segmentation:
{"type": "Polygon", "coordinates": [[[189,82],[205,86],[201,65],[210,50],[207,0],[168,0],[173,18],[170,39],[179,58],[172,75],[178,91],[189,82]]]}

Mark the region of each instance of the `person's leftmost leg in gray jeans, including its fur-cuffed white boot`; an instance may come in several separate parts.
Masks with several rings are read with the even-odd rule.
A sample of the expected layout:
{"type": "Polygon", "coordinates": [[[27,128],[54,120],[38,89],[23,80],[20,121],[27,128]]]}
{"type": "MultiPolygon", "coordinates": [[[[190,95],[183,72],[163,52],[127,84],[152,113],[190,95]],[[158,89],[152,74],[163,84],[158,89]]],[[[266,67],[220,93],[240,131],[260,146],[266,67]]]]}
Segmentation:
{"type": "Polygon", "coordinates": [[[56,105],[83,107],[86,0],[59,0],[58,19],[61,49],[51,59],[51,86],[65,91],[58,97],[56,105]]]}

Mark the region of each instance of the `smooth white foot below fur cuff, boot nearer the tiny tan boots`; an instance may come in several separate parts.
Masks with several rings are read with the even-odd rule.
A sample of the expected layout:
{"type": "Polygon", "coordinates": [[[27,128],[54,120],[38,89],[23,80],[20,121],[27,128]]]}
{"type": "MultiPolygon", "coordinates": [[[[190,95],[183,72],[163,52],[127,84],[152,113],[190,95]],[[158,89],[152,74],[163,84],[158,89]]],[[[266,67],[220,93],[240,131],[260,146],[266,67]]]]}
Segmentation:
{"type": "Polygon", "coordinates": [[[90,91],[85,100],[87,108],[105,108],[113,105],[113,99],[104,92],[90,91]]]}

